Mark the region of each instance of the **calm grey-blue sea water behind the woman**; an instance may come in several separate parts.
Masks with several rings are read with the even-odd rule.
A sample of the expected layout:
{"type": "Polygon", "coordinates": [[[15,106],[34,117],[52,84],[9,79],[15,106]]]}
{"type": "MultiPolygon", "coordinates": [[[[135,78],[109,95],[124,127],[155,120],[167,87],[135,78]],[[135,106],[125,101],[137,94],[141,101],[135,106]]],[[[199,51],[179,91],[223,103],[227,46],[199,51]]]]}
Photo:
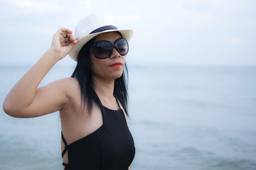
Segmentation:
{"type": "MultiPolygon", "coordinates": [[[[256,169],[256,67],[128,67],[131,170],[256,169]]],[[[1,65],[1,104],[28,69],[1,65]]],[[[41,86],[73,69],[53,67],[41,86]]],[[[0,169],[63,169],[58,113],[0,112],[0,169]]]]}

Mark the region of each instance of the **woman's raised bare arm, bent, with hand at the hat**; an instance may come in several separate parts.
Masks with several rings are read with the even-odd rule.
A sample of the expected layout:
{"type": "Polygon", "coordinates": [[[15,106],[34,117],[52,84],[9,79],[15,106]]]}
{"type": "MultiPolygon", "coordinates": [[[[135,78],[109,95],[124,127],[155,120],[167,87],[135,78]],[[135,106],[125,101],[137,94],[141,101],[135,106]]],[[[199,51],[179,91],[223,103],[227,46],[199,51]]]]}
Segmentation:
{"type": "Polygon", "coordinates": [[[28,118],[60,110],[67,102],[65,91],[60,88],[63,80],[41,89],[38,89],[38,85],[53,65],[68,55],[77,42],[78,38],[73,37],[71,30],[60,28],[53,35],[50,49],[11,89],[4,101],[4,111],[14,117],[28,118]]]}

